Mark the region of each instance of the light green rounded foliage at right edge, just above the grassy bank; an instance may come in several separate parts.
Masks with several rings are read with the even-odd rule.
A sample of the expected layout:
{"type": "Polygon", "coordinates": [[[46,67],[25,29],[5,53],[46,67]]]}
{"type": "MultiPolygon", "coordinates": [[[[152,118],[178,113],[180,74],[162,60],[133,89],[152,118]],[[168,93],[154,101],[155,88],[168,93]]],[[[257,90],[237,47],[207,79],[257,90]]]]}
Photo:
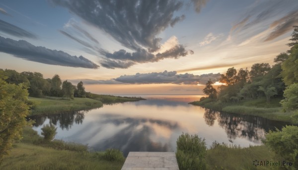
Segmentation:
{"type": "Polygon", "coordinates": [[[291,84],[284,92],[281,104],[285,110],[298,110],[298,84],[291,84]]]}

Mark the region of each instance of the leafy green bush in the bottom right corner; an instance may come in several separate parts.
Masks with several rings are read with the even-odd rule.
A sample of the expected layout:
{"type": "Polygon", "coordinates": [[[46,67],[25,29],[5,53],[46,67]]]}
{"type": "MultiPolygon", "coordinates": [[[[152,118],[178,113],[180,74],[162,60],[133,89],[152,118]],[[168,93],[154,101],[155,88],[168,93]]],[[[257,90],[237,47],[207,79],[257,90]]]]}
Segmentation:
{"type": "Polygon", "coordinates": [[[298,168],[298,126],[286,126],[269,131],[263,143],[298,168]]]}

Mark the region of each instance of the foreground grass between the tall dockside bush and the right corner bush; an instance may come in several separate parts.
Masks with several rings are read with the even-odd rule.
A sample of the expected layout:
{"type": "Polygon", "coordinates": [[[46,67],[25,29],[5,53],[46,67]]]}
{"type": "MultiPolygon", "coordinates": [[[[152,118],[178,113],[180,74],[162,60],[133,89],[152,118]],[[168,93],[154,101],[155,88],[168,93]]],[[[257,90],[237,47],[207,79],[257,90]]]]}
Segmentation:
{"type": "Polygon", "coordinates": [[[208,170],[278,170],[281,167],[254,166],[253,161],[283,161],[268,147],[251,146],[240,148],[235,145],[218,144],[207,150],[208,170]]]}

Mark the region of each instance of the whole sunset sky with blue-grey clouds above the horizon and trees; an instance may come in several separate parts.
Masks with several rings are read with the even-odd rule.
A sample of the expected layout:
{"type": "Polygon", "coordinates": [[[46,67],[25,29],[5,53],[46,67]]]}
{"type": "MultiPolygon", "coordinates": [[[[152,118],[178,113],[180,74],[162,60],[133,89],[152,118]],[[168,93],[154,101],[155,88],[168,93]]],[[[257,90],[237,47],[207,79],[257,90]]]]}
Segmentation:
{"type": "Polygon", "coordinates": [[[297,0],[1,0],[0,68],[97,94],[202,94],[289,50],[297,0]]]}

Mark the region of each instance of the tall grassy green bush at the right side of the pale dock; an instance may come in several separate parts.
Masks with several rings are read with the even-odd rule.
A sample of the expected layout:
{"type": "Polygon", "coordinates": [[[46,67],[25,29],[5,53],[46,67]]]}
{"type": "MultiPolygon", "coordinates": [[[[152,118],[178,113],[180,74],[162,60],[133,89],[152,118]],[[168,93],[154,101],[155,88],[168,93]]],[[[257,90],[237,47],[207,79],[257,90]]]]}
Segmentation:
{"type": "Polygon", "coordinates": [[[177,139],[177,162],[180,170],[206,170],[206,142],[198,135],[182,133],[177,139]]]}

